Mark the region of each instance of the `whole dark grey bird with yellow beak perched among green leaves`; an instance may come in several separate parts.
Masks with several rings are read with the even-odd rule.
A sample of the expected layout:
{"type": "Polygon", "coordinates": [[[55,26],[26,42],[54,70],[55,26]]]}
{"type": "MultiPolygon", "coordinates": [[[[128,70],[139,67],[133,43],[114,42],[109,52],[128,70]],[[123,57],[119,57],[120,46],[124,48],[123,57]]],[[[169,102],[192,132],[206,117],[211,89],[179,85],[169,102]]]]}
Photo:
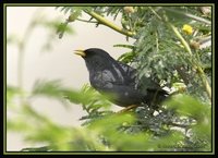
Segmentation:
{"type": "Polygon", "coordinates": [[[137,80],[137,70],[113,59],[100,48],[77,49],[89,72],[90,85],[100,94],[112,97],[110,101],[117,106],[133,108],[142,104],[159,105],[168,93],[150,77],[137,80]]]}

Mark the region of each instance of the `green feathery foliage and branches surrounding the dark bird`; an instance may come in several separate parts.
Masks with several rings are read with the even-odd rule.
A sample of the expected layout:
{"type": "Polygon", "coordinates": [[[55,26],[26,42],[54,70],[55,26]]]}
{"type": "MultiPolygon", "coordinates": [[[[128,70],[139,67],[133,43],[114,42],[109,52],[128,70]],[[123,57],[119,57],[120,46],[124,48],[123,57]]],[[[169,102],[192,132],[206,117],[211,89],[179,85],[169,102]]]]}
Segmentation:
{"type": "MultiPolygon", "coordinates": [[[[204,47],[211,41],[210,8],[58,7],[56,11],[64,17],[48,21],[33,17],[23,39],[14,40],[14,36],[7,39],[19,49],[19,85],[7,85],[7,112],[13,111],[16,116],[7,118],[7,132],[22,133],[33,146],[44,144],[21,148],[22,151],[211,150],[211,48],[204,47]],[[89,16],[84,19],[84,14],[89,16]],[[117,20],[120,26],[108,21],[108,16],[120,17],[117,20]],[[88,84],[75,89],[61,81],[36,78],[31,92],[26,92],[22,64],[29,33],[38,26],[47,27],[61,41],[73,33],[71,24],[78,21],[95,25],[96,29],[105,25],[123,35],[128,44],[114,44],[114,48],[125,50],[118,59],[141,70],[138,80],[143,75],[152,76],[168,88],[171,98],[159,109],[145,105],[117,113],[107,97],[88,84]],[[134,42],[129,42],[131,38],[134,42]],[[65,108],[80,105],[85,112],[81,117],[82,125],[51,121],[33,108],[32,100],[37,97],[59,100],[65,108]]],[[[44,49],[53,47],[55,36],[48,37],[44,49]]]]}

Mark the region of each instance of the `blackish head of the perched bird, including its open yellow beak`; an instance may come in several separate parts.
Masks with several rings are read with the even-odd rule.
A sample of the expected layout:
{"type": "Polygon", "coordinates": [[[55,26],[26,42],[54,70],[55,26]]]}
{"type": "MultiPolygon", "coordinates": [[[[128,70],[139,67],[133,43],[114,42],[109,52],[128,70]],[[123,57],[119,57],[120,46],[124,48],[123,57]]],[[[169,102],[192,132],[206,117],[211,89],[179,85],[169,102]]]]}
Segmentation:
{"type": "Polygon", "coordinates": [[[86,50],[75,50],[75,54],[81,56],[88,70],[99,70],[111,66],[111,62],[114,61],[108,52],[99,48],[89,48],[86,50]]]}

